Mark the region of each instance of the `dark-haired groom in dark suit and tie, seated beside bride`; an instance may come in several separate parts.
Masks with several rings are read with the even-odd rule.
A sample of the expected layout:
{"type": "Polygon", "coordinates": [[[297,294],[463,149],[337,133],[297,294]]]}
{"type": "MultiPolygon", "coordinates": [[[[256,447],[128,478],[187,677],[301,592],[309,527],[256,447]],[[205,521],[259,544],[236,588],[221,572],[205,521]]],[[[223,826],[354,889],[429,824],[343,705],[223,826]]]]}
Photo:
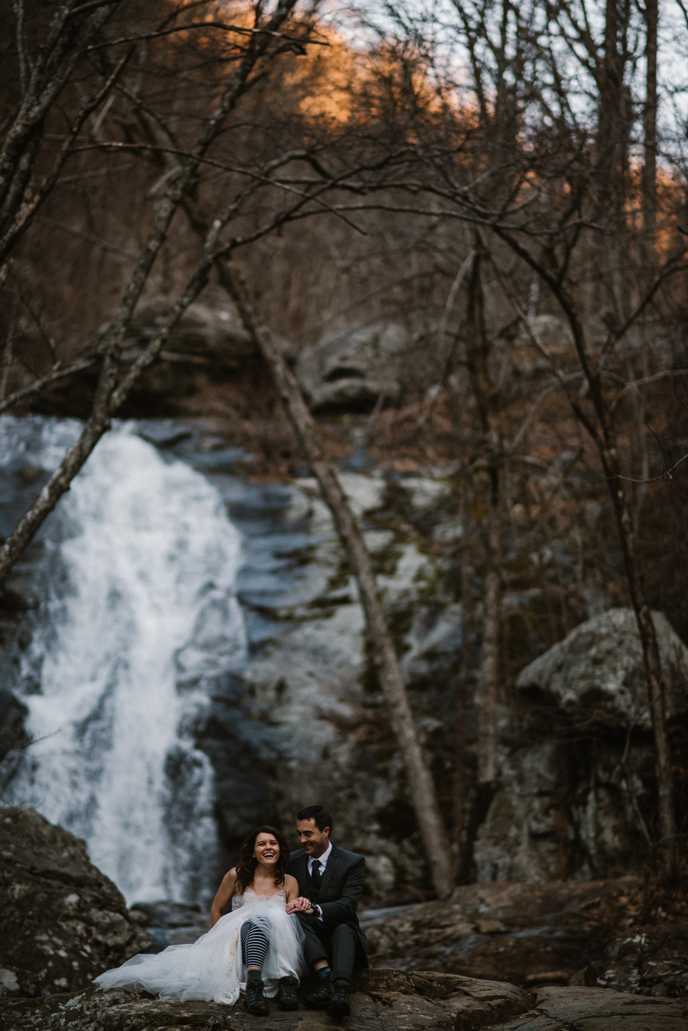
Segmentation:
{"type": "Polygon", "coordinates": [[[296,829],[303,847],[291,854],[289,873],[300,897],[288,903],[287,912],[298,914],[306,962],[320,978],[318,991],[303,1002],[330,1017],[348,1017],[352,974],[368,965],[368,942],[356,916],[365,860],[330,841],[332,816],[322,805],[297,812],[296,829]]]}

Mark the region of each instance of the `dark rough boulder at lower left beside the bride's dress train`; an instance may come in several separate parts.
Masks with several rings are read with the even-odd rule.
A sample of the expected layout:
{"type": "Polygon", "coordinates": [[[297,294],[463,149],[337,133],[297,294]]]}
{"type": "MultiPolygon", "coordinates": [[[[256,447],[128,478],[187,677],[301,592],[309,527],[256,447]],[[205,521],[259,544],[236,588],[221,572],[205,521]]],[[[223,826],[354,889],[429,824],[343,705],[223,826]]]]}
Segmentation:
{"type": "Polygon", "coordinates": [[[85,988],[150,944],[84,841],[34,809],[0,809],[0,995],[85,988]]]}

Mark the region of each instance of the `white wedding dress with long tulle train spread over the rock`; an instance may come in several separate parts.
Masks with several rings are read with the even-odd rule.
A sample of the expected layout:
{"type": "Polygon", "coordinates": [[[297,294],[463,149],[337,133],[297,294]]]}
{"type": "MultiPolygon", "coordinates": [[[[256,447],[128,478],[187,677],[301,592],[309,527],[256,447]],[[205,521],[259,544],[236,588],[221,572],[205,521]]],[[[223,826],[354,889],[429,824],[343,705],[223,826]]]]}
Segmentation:
{"type": "Polygon", "coordinates": [[[151,992],[160,999],[204,999],[233,1006],[245,988],[247,969],[241,958],[239,929],[247,920],[269,922],[269,946],[263,966],[265,994],[277,993],[281,977],[301,977],[307,972],[303,957],[303,931],[296,916],[286,910],[287,893],[256,895],[247,888],[232,898],[232,911],[221,917],[193,945],[168,945],[157,956],[132,957],[116,970],[106,970],[93,982],[107,991],[151,992]]]}

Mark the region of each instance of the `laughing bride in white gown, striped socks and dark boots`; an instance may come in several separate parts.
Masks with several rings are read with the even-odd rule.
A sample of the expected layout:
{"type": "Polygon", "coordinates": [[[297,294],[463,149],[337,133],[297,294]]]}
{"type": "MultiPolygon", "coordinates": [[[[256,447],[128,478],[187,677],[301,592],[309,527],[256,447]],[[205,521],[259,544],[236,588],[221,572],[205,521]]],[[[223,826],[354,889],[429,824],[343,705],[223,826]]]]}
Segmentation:
{"type": "Polygon", "coordinates": [[[298,918],[286,911],[299,894],[296,877],[286,872],[288,861],[285,836],[274,827],[258,827],[241,845],[238,866],[222,879],[207,934],[193,945],[134,956],[94,985],[229,1006],[243,990],[249,1012],[256,1017],[267,1015],[266,996],[276,995],[280,1009],[297,1009],[296,988],[307,966],[298,918]],[[223,917],[230,899],[232,911],[223,917]]]}

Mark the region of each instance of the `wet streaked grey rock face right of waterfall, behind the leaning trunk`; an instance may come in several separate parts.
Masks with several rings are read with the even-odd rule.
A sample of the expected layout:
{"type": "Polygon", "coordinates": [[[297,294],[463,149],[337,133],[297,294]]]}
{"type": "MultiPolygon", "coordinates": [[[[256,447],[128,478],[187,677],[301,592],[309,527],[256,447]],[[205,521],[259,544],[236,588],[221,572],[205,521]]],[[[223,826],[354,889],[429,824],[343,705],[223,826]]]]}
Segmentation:
{"type": "MultiPolygon", "coordinates": [[[[365,513],[381,503],[384,479],[349,472],[341,479],[363,517],[375,561],[389,570],[381,585],[390,606],[411,611],[423,589],[423,571],[431,568],[426,556],[414,543],[397,548],[391,533],[366,525],[365,513]]],[[[235,861],[241,838],[260,822],[282,826],[298,846],[295,813],[320,802],[334,816],[333,840],[365,856],[369,894],[384,895],[397,882],[427,885],[383,699],[368,684],[356,586],[317,485],[227,480],[223,490],[244,537],[237,588],[249,658],[242,669],[212,686],[198,740],[216,770],[227,862],[235,861]]],[[[435,637],[434,623],[416,627],[408,651],[408,661],[424,671],[430,635],[432,668],[446,672],[437,683],[449,692],[454,609],[451,616],[451,632],[443,624],[435,637]]],[[[428,704],[436,711],[433,701],[428,704]]],[[[421,722],[426,739],[440,726],[429,716],[421,722]]]]}

